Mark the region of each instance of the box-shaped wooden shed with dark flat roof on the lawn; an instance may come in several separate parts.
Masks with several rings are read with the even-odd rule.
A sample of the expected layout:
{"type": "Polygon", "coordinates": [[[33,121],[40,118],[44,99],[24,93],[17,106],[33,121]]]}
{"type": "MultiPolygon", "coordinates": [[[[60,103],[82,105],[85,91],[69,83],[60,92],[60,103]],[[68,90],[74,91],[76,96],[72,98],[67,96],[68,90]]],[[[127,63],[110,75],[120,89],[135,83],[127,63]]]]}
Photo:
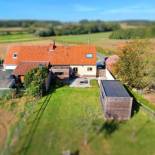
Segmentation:
{"type": "Polygon", "coordinates": [[[100,100],[105,119],[130,119],[133,98],[120,81],[102,80],[100,85],[100,100]]]}

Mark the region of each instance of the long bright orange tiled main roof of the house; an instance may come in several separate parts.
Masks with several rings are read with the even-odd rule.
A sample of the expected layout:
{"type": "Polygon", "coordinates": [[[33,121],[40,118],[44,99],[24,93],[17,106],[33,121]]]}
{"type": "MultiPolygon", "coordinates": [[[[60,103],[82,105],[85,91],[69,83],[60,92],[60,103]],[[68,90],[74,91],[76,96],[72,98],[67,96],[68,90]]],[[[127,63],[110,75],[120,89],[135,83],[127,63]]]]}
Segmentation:
{"type": "Polygon", "coordinates": [[[57,46],[50,50],[52,45],[47,46],[12,46],[9,48],[4,64],[18,65],[21,62],[50,62],[52,65],[95,65],[95,46],[57,46]],[[17,58],[13,58],[13,54],[17,58]],[[92,53],[93,58],[86,58],[86,54],[92,53]]]}

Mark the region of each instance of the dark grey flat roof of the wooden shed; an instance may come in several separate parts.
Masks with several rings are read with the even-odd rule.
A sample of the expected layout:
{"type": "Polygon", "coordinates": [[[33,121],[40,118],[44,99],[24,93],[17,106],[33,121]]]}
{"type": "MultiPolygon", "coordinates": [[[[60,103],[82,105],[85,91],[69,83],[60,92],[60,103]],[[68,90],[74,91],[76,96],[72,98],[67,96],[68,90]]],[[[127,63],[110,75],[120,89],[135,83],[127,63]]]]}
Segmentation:
{"type": "Polygon", "coordinates": [[[124,86],[117,80],[102,80],[106,96],[109,97],[130,97],[124,86]]]}

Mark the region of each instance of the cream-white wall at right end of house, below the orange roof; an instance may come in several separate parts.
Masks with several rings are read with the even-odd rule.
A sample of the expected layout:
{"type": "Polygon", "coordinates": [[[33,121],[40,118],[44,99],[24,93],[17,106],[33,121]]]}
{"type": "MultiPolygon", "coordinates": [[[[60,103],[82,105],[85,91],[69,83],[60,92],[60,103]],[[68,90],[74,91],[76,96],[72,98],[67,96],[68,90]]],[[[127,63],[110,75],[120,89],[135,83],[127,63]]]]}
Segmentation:
{"type": "Polygon", "coordinates": [[[73,68],[78,68],[79,76],[95,76],[96,77],[96,66],[70,66],[73,68]],[[91,67],[92,71],[88,71],[87,68],[91,67]]]}

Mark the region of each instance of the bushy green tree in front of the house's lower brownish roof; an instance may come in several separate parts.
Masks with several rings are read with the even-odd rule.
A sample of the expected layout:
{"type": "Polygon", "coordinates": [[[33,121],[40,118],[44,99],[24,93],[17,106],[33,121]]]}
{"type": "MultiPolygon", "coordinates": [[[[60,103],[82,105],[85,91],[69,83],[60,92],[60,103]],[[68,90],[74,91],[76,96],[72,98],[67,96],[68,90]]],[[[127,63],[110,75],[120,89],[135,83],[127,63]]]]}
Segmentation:
{"type": "Polygon", "coordinates": [[[44,66],[32,69],[25,75],[24,86],[27,94],[32,96],[42,96],[45,93],[45,80],[48,69],[44,66]]]}

